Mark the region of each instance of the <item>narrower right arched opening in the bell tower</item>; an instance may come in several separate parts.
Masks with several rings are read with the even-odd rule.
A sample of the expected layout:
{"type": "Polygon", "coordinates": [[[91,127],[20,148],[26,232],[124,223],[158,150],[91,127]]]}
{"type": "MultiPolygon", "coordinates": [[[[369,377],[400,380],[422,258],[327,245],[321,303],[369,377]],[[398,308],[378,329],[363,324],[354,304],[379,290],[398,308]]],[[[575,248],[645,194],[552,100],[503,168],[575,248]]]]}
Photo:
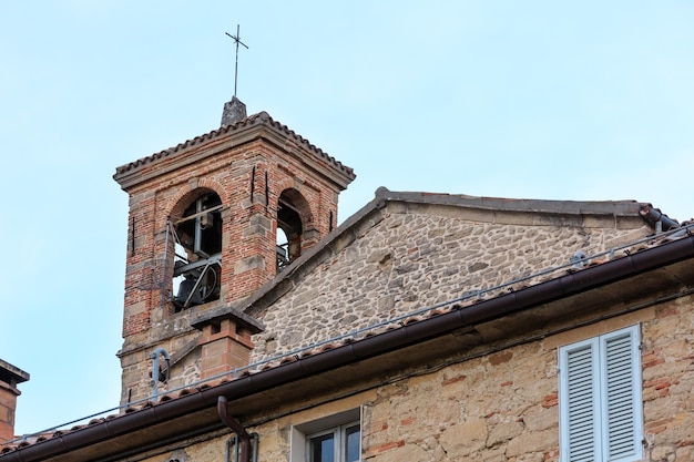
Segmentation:
{"type": "Polygon", "coordinates": [[[302,236],[310,222],[308,203],[296,189],[286,189],[277,201],[277,273],[302,255],[302,236]]]}

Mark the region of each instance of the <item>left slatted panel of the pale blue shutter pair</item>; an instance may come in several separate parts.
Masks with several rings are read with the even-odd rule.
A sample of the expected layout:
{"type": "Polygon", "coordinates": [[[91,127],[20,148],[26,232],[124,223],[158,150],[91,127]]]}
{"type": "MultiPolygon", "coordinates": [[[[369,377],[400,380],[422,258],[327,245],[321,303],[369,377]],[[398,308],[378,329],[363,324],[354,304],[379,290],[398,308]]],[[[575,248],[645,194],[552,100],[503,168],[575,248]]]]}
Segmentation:
{"type": "Polygon", "coordinates": [[[594,340],[575,345],[563,352],[562,382],[564,394],[562,443],[567,462],[596,462],[598,420],[596,372],[598,347],[594,340]]]}

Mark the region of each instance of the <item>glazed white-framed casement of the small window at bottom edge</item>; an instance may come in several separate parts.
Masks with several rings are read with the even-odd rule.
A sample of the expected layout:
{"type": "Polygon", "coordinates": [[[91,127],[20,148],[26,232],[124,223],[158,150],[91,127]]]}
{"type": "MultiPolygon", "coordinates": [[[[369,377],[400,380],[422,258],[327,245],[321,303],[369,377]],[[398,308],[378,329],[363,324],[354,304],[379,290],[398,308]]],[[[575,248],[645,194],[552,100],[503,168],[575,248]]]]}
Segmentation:
{"type": "Polygon", "coordinates": [[[309,462],[358,462],[360,440],[358,422],[308,435],[309,462]]]}

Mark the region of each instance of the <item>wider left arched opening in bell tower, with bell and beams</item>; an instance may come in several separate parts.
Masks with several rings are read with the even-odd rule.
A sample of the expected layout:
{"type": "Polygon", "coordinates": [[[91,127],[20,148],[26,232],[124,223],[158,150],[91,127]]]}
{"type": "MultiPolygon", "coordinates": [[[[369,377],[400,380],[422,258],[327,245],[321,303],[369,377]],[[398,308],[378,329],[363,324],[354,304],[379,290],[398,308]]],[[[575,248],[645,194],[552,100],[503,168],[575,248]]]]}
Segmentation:
{"type": "Polygon", "coordinates": [[[173,223],[174,311],[220,298],[222,199],[205,192],[194,197],[173,223]]]}

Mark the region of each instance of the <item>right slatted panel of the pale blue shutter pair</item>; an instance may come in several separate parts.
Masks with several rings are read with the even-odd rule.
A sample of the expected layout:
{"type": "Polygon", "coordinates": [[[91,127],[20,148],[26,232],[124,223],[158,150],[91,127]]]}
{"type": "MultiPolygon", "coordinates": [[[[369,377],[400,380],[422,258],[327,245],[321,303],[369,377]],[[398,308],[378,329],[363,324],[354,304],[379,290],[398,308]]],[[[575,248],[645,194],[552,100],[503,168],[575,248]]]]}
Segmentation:
{"type": "Polygon", "coordinates": [[[637,459],[641,456],[637,329],[624,329],[601,337],[601,356],[605,461],[637,459]]]}

